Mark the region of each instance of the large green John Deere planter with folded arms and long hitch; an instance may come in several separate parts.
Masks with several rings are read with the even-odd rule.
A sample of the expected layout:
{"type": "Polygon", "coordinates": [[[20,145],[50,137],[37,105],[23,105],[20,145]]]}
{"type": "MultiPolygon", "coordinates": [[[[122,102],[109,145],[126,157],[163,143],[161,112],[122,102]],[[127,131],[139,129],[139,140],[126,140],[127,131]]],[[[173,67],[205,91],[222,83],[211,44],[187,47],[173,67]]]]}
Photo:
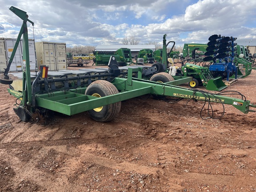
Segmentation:
{"type": "MultiPolygon", "coordinates": [[[[255,112],[251,108],[256,105],[246,100],[225,96],[226,93],[211,94],[197,89],[182,88],[178,85],[190,82],[192,77],[171,76],[167,70],[167,45],[166,35],[163,39],[163,63],[156,63],[152,67],[139,66],[119,68],[115,56],[111,56],[108,62],[108,70],[105,72],[77,74],[76,76],[61,75],[53,78],[48,76],[48,66],[44,66],[32,78],[28,56],[28,15],[26,12],[11,7],[12,12],[23,20],[23,25],[17,42],[23,35],[24,45],[24,69],[22,72],[21,88],[18,90],[12,86],[13,81],[18,81],[16,76],[8,74],[16,47],[12,52],[10,62],[4,74],[0,77],[0,83],[9,84],[8,92],[17,98],[14,111],[22,121],[37,123],[47,116],[48,111],[60,112],[66,115],[74,115],[87,111],[93,120],[106,122],[113,120],[121,108],[121,101],[150,94],[155,99],[167,100],[169,97],[178,102],[182,99],[201,100],[208,103],[211,111],[211,103],[230,104],[247,114],[255,112]],[[18,102],[19,101],[19,102],[18,102]]],[[[209,112],[208,112],[209,114],[209,112]]],[[[210,114],[213,118],[213,115],[210,114]]]]}

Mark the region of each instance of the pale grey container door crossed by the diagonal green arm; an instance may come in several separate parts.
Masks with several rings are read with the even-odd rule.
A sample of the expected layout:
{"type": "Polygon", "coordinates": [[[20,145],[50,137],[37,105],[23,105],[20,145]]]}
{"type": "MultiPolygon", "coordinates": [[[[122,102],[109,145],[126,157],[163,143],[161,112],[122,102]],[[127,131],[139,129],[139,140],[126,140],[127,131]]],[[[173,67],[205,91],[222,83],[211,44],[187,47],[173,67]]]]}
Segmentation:
{"type": "MultiPolygon", "coordinates": [[[[5,40],[5,47],[6,47],[8,62],[12,55],[12,51],[13,51],[15,43],[16,43],[16,39],[6,39],[5,40]]],[[[10,71],[22,71],[22,64],[23,64],[23,60],[22,60],[21,42],[19,42],[19,46],[18,46],[15,56],[12,60],[10,71]]]]}

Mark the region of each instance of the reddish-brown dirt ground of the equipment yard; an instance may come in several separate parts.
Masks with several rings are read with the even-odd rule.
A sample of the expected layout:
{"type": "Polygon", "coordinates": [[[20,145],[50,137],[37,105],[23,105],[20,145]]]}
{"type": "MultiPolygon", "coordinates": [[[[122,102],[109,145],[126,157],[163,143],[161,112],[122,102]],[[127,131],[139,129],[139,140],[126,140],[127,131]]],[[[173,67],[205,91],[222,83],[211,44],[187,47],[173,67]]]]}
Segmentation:
{"type": "MultiPolygon", "coordinates": [[[[143,96],[123,101],[108,123],[83,112],[30,124],[7,88],[0,84],[1,192],[256,191],[256,113],[224,105],[221,119],[203,120],[202,102],[143,96]]],[[[256,70],[230,90],[256,104],[256,70]]]]}

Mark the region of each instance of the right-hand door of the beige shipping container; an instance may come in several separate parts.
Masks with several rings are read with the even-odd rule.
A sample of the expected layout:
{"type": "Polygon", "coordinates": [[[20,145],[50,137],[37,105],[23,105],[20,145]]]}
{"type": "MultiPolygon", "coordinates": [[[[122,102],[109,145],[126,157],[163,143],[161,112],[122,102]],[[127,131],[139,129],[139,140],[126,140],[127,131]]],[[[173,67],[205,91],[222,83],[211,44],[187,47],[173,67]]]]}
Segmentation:
{"type": "Polygon", "coordinates": [[[66,44],[55,44],[56,48],[56,63],[58,70],[67,69],[66,62],[66,44]]]}

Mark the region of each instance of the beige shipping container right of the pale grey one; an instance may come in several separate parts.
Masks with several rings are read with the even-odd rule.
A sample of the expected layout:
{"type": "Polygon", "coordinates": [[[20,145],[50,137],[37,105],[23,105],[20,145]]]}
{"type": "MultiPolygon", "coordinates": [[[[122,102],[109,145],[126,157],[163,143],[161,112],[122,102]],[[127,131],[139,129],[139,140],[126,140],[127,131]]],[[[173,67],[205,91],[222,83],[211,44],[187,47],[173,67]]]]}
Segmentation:
{"type": "Polygon", "coordinates": [[[53,42],[36,42],[38,68],[48,66],[49,71],[67,69],[66,44],[53,42]]]}

